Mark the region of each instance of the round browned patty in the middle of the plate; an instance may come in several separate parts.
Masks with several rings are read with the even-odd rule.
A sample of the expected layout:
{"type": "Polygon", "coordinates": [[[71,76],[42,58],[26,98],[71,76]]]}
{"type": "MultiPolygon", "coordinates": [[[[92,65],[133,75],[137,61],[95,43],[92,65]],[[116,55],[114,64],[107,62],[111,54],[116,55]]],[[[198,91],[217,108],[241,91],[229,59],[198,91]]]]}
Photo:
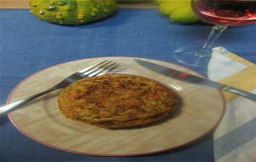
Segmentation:
{"type": "Polygon", "coordinates": [[[69,119],[105,128],[125,128],[164,119],[177,108],[178,97],[152,79],[112,73],[67,86],[61,91],[58,104],[69,119]]]}

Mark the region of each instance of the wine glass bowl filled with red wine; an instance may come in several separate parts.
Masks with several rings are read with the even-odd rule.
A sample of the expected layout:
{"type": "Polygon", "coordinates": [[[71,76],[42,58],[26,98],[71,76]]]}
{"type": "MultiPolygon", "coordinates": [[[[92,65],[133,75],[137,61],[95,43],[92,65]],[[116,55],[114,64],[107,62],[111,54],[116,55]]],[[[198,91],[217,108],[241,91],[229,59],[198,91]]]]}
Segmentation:
{"type": "Polygon", "coordinates": [[[202,21],[222,26],[256,23],[256,0],[192,0],[202,21]]]}

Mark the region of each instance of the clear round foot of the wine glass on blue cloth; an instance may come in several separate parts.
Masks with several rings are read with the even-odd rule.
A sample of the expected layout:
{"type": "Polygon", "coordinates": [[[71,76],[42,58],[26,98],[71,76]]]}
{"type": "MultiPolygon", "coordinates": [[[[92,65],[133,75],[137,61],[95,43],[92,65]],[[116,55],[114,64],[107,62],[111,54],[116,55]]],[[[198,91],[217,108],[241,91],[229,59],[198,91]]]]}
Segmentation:
{"type": "Polygon", "coordinates": [[[211,54],[212,51],[202,50],[202,44],[196,44],[176,49],[173,56],[177,61],[188,66],[207,67],[211,54]]]}

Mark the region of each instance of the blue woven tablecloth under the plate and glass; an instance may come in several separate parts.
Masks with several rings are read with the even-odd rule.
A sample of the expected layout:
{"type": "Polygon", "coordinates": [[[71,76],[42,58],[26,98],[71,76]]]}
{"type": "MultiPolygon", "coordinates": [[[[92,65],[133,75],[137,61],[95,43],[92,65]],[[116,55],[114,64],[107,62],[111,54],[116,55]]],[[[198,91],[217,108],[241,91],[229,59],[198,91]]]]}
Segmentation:
{"type": "MultiPolygon", "coordinates": [[[[86,26],[57,26],[38,20],[28,9],[0,9],[0,104],[16,84],[55,64],[99,56],[136,56],[174,61],[172,51],[204,43],[212,26],[179,25],[156,9],[119,9],[107,20],[86,26]]],[[[256,62],[256,26],[230,27],[222,45],[256,62]]],[[[192,67],[191,67],[192,68],[192,67]]],[[[194,68],[206,75],[206,69],[194,68]]],[[[171,138],[171,137],[170,137],[171,138]]],[[[212,134],[189,146],[137,157],[95,157],[67,153],[32,141],[7,117],[0,119],[0,161],[213,161],[212,134]]]]}

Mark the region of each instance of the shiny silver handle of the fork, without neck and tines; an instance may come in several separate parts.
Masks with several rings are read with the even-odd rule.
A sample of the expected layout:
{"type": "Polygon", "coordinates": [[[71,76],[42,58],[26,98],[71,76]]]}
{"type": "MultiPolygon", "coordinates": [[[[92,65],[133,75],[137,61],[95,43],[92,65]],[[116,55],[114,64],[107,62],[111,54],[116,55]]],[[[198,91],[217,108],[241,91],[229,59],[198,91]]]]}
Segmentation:
{"type": "Polygon", "coordinates": [[[39,92],[38,94],[31,95],[31,96],[27,97],[26,99],[23,99],[20,101],[15,101],[14,103],[10,103],[8,105],[0,107],[0,118],[3,117],[4,115],[6,115],[7,113],[10,113],[16,109],[19,109],[20,107],[25,105],[27,102],[32,101],[33,99],[38,98],[41,95],[47,94],[50,91],[57,90],[57,89],[59,89],[59,87],[54,86],[54,87],[49,88],[48,90],[39,92]]]}

